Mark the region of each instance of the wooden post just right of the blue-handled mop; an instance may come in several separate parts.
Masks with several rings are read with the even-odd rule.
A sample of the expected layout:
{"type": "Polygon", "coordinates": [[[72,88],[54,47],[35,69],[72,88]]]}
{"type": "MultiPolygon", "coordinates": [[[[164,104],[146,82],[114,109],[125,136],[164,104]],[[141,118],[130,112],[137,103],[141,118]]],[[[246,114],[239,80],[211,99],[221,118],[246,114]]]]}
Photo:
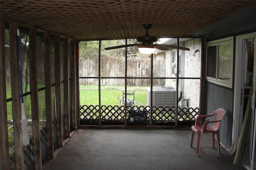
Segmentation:
{"type": "Polygon", "coordinates": [[[38,86],[37,86],[36,29],[29,29],[29,66],[30,66],[30,96],[31,96],[34,154],[35,154],[35,169],[42,170],[38,86]]]}

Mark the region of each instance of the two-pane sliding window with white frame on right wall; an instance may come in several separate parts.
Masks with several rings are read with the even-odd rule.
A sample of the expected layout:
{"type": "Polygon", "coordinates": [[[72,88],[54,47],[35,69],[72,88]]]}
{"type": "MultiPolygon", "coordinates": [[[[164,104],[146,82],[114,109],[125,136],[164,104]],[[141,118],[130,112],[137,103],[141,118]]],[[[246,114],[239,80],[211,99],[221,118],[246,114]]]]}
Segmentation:
{"type": "Polygon", "coordinates": [[[206,80],[232,88],[233,37],[207,43],[206,80]]]}

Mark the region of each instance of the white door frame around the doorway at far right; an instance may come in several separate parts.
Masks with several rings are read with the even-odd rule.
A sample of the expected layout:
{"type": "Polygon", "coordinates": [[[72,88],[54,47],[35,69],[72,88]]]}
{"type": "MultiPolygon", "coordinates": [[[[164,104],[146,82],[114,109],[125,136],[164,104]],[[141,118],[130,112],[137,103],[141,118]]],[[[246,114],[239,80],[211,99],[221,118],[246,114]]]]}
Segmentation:
{"type": "MultiPolygon", "coordinates": [[[[234,78],[234,107],[233,107],[233,126],[232,126],[232,145],[234,142],[238,139],[241,129],[242,129],[242,121],[243,121],[243,94],[244,94],[244,63],[247,62],[245,61],[245,55],[246,55],[246,47],[245,47],[245,40],[249,38],[256,37],[256,32],[254,33],[248,33],[244,35],[239,35],[236,36],[236,55],[235,55],[235,78],[234,78]]],[[[254,42],[256,40],[254,39],[254,42]]],[[[256,47],[254,43],[254,47],[256,47]]],[[[254,79],[256,77],[255,72],[256,72],[256,48],[254,48],[254,79]]],[[[253,81],[253,93],[255,93],[255,81],[253,81]]],[[[254,96],[255,100],[255,96],[254,96]]],[[[255,107],[254,107],[255,108],[255,107]]],[[[254,109],[255,111],[255,109],[254,109]]],[[[256,129],[256,116],[252,117],[252,125],[254,125],[254,130],[251,129],[250,135],[253,138],[252,141],[252,159],[255,159],[255,129],[256,129]],[[253,122],[254,120],[254,122],[253,122]]],[[[247,165],[248,169],[253,170],[253,165],[254,161],[250,160],[250,168],[247,165]]]]}

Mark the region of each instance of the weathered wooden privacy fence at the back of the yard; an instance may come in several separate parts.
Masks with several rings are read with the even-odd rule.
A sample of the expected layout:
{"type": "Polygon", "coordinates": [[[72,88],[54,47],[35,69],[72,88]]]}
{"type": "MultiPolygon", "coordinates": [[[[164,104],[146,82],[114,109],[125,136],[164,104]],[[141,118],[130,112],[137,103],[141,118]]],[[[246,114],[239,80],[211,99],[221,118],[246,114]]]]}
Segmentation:
{"type": "MultiPolygon", "coordinates": [[[[79,61],[80,85],[95,85],[96,78],[99,77],[99,61],[98,58],[80,58],[79,61]],[[90,78],[91,77],[91,78],[90,78]],[[94,78],[92,78],[94,77],[94,78]]],[[[123,86],[125,77],[125,58],[117,57],[102,57],[100,59],[100,76],[102,85],[123,86]],[[106,78],[119,77],[119,78],[106,78]],[[121,78],[120,78],[121,77],[121,78]]],[[[153,61],[153,76],[165,77],[165,60],[153,61]]],[[[127,77],[136,77],[136,79],[129,79],[128,86],[148,86],[150,84],[151,75],[151,59],[130,57],[127,59],[127,77]],[[138,78],[139,77],[139,78],[138,78]]],[[[164,86],[164,81],[154,80],[156,86],[164,86]],[[158,82],[159,81],[159,82],[158,82]]]]}

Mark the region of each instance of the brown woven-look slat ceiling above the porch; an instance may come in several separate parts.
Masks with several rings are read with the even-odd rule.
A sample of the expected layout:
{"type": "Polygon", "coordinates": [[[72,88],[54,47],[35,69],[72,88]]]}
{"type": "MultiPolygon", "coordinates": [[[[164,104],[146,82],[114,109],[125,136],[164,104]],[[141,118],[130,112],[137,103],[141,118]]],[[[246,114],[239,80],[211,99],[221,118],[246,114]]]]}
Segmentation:
{"type": "Polygon", "coordinates": [[[255,0],[0,0],[0,15],[74,40],[186,37],[255,0]]]}

